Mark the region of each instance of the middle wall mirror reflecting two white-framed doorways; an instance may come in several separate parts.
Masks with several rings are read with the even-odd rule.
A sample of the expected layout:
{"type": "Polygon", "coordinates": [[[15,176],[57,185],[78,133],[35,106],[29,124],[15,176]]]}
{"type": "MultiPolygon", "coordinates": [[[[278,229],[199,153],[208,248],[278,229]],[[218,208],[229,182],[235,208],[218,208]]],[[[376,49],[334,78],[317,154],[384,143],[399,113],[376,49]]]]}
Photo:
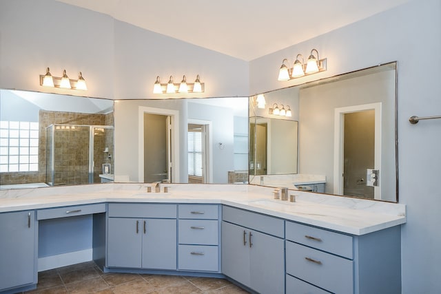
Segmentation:
{"type": "Polygon", "coordinates": [[[115,101],[115,181],[245,183],[248,97],[115,101]]]}

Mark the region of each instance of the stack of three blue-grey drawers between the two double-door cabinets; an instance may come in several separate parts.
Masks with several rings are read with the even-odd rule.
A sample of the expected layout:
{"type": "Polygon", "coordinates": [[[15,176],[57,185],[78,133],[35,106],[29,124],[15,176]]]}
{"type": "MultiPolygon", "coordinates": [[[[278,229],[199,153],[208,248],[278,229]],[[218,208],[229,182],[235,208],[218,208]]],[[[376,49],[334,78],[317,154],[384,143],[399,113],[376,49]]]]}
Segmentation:
{"type": "Polygon", "coordinates": [[[220,206],[178,205],[178,270],[219,272],[220,206]]]}

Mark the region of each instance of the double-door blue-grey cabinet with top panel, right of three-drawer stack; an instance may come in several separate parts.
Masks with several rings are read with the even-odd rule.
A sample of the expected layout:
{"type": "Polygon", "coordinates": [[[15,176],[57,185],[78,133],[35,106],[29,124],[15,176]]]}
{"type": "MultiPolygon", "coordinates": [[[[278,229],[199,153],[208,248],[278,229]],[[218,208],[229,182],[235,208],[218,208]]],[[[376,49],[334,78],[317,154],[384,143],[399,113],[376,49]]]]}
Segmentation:
{"type": "Polygon", "coordinates": [[[223,206],[222,273],[258,293],[285,293],[285,221],[223,206]]]}

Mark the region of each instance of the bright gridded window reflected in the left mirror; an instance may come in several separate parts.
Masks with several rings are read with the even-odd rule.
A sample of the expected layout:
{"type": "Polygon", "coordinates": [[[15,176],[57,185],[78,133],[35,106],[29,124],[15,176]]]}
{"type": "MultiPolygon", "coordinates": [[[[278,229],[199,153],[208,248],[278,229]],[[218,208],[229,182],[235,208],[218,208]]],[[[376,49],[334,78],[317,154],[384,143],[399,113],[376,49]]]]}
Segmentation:
{"type": "Polygon", "coordinates": [[[39,170],[39,123],[0,121],[0,172],[39,170]]]}

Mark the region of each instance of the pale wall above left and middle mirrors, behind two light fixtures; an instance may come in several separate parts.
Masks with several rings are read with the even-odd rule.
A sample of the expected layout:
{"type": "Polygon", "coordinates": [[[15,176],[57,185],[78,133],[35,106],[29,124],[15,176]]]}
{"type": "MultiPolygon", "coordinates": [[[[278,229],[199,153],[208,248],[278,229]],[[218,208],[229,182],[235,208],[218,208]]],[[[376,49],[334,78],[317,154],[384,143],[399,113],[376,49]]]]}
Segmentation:
{"type": "Polygon", "coordinates": [[[0,88],[101,98],[165,98],[152,94],[156,76],[205,83],[203,94],[247,96],[248,63],[112,17],[54,0],[0,1],[0,88]],[[50,67],[70,78],[81,71],[88,91],[41,87],[50,67]]]}

